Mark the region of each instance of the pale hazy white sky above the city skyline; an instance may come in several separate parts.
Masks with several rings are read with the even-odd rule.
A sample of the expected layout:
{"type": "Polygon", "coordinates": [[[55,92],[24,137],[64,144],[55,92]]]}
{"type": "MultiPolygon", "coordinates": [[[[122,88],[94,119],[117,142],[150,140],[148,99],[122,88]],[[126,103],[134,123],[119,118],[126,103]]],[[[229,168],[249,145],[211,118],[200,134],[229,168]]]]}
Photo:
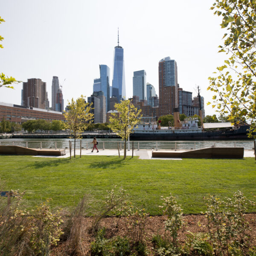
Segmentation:
{"type": "MultiPolygon", "coordinates": [[[[213,0],[0,0],[3,49],[0,72],[18,81],[47,83],[51,106],[52,76],[67,100],[93,93],[99,64],[113,77],[113,51],[124,48],[126,97],[132,97],[133,72],[145,70],[158,94],[158,62],[177,62],[178,83],[196,96],[201,88],[205,113],[214,114],[208,77],[225,59],[218,46],[225,31],[213,15],[213,0]]],[[[112,84],[111,84],[112,85],[112,84]]],[[[22,83],[0,89],[0,102],[21,104],[22,83]]]]}

